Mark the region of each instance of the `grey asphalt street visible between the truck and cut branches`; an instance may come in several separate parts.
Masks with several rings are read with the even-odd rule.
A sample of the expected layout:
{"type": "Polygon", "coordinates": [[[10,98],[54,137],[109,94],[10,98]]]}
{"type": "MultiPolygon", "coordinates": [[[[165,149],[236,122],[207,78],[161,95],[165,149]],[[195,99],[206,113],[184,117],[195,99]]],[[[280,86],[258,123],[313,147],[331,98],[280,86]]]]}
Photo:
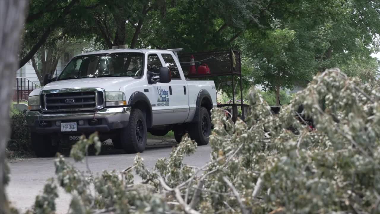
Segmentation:
{"type": "MultiPolygon", "coordinates": [[[[141,153],[148,169],[153,169],[158,158],[169,157],[173,147],[173,140],[166,142],[148,140],[149,146],[141,153]]],[[[103,170],[112,171],[123,170],[133,164],[136,154],[124,154],[120,150],[110,150],[106,154],[89,156],[89,167],[95,174],[101,174],[103,170]]],[[[199,146],[196,153],[184,158],[184,163],[192,166],[203,166],[210,158],[210,147],[199,146]]],[[[74,163],[72,158],[66,158],[74,163]]],[[[86,171],[85,163],[74,164],[79,170],[86,171]]],[[[6,188],[8,198],[13,206],[19,211],[31,208],[35,197],[42,193],[46,180],[55,177],[54,158],[31,158],[26,160],[11,161],[11,181],[6,188]]],[[[140,182],[141,178],[135,176],[135,182],[140,182]]],[[[67,213],[71,201],[71,196],[59,188],[59,198],[56,200],[57,214],[67,213]]]]}

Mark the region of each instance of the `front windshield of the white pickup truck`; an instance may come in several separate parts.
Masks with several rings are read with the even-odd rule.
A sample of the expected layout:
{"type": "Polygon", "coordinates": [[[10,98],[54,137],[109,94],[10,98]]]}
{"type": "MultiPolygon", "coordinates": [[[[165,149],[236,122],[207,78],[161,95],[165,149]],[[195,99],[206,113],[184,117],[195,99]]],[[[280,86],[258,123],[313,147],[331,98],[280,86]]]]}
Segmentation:
{"type": "Polygon", "coordinates": [[[108,53],[74,57],[58,80],[94,77],[142,76],[142,53],[108,53]]]}

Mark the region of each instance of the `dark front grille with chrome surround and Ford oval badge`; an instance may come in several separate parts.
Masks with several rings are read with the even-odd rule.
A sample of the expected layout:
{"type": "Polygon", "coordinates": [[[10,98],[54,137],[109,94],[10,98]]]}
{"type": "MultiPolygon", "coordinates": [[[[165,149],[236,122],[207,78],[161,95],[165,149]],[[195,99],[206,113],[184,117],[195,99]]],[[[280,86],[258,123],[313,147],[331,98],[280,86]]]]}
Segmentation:
{"type": "Polygon", "coordinates": [[[42,106],[46,111],[96,110],[104,103],[102,91],[75,91],[42,94],[42,106]]]}

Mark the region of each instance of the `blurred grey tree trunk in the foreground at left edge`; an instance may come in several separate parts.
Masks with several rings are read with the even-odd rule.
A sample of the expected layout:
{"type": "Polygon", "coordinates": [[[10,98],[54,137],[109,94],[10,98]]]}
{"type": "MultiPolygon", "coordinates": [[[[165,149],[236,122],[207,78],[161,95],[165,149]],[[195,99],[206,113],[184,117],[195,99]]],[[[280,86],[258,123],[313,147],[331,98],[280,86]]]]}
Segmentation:
{"type": "Polygon", "coordinates": [[[9,105],[18,65],[21,30],[28,1],[0,1],[0,214],[9,213],[5,192],[5,149],[8,143],[9,105]]]}

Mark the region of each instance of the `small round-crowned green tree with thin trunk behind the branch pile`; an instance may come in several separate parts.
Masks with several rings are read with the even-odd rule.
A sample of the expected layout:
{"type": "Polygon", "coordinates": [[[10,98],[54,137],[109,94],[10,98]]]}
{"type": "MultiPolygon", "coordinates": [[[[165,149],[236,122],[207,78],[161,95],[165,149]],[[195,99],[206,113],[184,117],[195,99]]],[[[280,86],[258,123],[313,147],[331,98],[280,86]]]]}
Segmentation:
{"type": "Polygon", "coordinates": [[[312,71],[317,69],[314,49],[308,43],[302,43],[296,31],[290,29],[268,30],[264,38],[254,38],[257,34],[245,35],[252,43],[244,47],[250,55],[255,84],[263,85],[264,90],[274,91],[276,105],[280,105],[280,88],[292,88],[295,83],[310,80],[312,71]]]}

